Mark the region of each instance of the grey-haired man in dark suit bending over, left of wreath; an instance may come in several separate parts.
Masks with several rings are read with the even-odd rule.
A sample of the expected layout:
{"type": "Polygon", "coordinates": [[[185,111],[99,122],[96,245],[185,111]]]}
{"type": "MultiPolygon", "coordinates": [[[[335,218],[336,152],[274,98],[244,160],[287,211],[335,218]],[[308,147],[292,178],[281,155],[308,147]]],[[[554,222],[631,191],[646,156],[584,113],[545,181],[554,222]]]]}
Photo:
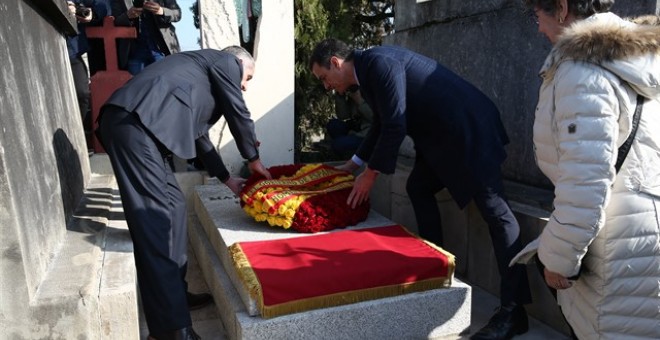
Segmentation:
{"type": "Polygon", "coordinates": [[[198,155],[238,195],[245,180],[229,174],[208,137],[223,116],[250,171],[271,178],[243,100],[253,74],[254,59],[241,47],[178,53],[145,68],[101,110],[99,132],[133,239],[150,339],[197,339],[186,294],[185,197],[172,155],[198,155]]]}

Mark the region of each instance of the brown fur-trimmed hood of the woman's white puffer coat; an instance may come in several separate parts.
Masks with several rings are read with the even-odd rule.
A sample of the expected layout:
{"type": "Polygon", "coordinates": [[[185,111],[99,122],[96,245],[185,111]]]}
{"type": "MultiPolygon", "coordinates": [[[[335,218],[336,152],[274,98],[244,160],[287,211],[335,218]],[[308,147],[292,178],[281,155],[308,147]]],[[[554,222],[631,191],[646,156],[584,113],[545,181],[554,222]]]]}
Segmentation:
{"type": "Polygon", "coordinates": [[[598,64],[645,97],[660,97],[660,18],[601,13],[580,20],[559,37],[541,75],[552,78],[564,60],[598,64]]]}

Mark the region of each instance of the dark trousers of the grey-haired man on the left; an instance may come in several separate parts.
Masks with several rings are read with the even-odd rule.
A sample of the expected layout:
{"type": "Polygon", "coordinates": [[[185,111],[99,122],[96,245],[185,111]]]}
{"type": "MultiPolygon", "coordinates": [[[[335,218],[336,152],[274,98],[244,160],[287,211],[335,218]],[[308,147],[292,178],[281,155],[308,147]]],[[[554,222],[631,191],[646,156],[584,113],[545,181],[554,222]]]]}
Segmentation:
{"type": "Polygon", "coordinates": [[[171,155],[137,115],[121,108],[104,109],[99,129],[133,239],[149,331],[158,334],[191,326],[185,197],[174,178],[171,155]]]}

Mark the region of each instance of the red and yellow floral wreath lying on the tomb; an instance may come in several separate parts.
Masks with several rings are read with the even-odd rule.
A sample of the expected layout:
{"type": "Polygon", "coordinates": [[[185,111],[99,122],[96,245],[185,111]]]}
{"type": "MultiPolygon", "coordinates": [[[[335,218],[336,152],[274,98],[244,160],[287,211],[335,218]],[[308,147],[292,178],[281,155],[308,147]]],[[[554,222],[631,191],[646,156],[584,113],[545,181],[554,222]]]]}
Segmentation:
{"type": "Polygon", "coordinates": [[[366,220],[369,202],[346,201],[353,175],[324,164],[270,167],[273,179],[253,174],[241,190],[241,206],[258,222],[302,233],[344,228],[366,220]]]}

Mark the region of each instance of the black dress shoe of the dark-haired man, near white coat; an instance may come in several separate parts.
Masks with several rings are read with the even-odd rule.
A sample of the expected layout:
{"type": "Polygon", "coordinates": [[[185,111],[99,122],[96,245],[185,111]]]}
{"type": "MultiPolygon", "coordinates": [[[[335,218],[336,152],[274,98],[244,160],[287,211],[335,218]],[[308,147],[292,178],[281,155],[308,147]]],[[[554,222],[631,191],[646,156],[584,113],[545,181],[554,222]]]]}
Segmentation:
{"type": "Polygon", "coordinates": [[[474,340],[505,340],[529,330],[527,312],[523,306],[513,309],[500,307],[488,324],[470,337],[474,340]]]}

